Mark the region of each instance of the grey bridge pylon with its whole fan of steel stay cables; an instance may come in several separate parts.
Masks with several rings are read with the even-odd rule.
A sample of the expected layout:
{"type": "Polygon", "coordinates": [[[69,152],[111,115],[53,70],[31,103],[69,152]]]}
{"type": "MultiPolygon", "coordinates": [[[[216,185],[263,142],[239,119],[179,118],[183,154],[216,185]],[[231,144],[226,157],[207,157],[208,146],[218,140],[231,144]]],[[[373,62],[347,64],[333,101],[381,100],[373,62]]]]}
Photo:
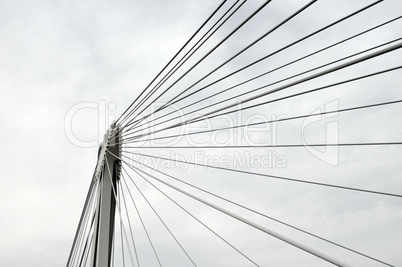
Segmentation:
{"type": "Polygon", "coordinates": [[[401,18],[219,3],[105,133],[67,266],[395,266],[401,18]]]}

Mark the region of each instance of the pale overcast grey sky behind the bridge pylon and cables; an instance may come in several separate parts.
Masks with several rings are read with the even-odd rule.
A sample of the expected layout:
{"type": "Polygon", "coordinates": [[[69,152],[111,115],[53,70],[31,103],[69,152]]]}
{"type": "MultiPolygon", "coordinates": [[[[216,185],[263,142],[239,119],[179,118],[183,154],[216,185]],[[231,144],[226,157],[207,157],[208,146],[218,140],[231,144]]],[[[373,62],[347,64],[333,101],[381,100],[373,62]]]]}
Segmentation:
{"type": "MultiPolygon", "coordinates": [[[[273,0],[250,23],[242,27],[214,51],[157,104],[164,103],[234,53],[273,28],[308,1],[273,0]]],[[[200,88],[231,73],[303,36],[328,25],[374,1],[321,0],[294,20],[253,46],[230,64],[197,84],[200,88]]],[[[234,1],[228,1],[217,13],[222,15],[234,1]]],[[[263,1],[248,1],[216,34],[172,76],[178,78],[198,59],[227,36],[231,30],[256,10],[263,1]]],[[[79,216],[85,201],[97,160],[99,142],[107,125],[122,114],[148,85],[195,30],[215,10],[216,1],[1,1],[0,2],[0,90],[2,92],[3,153],[2,186],[0,187],[0,262],[3,266],[63,266],[67,262],[79,216]]],[[[174,124],[184,118],[183,112],[217,103],[259,86],[382,45],[402,36],[398,20],[384,28],[351,40],[342,46],[324,51],[309,60],[284,68],[244,86],[181,107],[226,89],[241,81],[272,70],[303,55],[312,53],[339,40],[402,15],[398,0],[387,0],[343,24],[303,41],[285,52],[265,60],[247,71],[234,75],[208,90],[189,97],[174,108],[168,118],[174,124]]],[[[217,16],[218,17],[218,16],[217,16]]],[[[211,26],[212,24],[209,24],[211,26]]],[[[394,42],[392,44],[400,43],[394,42]]],[[[391,44],[391,45],[392,45],[391,44]]],[[[372,50],[378,51],[378,50],[372,50]]],[[[372,52],[371,51],[371,52],[372,52]]],[[[368,52],[370,53],[370,52],[368,52]]],[[[367,53],[366,53],[367,54],[367,53]]],[[[364,54],[365,55],[365,54],[364,54]]],[[[400,51],[390,52],[373,60],[309,81],[283,92],[250,101],[241,107],[269,101],[341,80],[352,79],[380,70],[398,67],[400,51]]],[[[346,60],[347,61],[347,60],[346,60]]],[[[336,65],[336,64],[335,64],[336,65]]],[[[332,66],[332,65],[331,65],[332,66]]],[[[314,73],[314,72],[312,72],[314,73]]],[[[287,82],[312,74],[278,82],[275,89],[287,82]]],[[[287,101],[238,112],[221,120],[208,120],[181,127],[182,131],[259,122],[269,119],[344,109],[362,105],[401,100],[401,71],[396,70],[369,80],[357,81],[335,89],[309,94],[287,101]],[[241,114],[239,117],[238,115],[241,114]]],[[[193,90],[195,88],[192,88],[193,90]]],[[[236,103],[240,99],[265,92],[267,88],[218,104],[204,112],[236,103]]],[[[191,90],[188,93],[192,92],[191,90]]],[[[152,100],[152,98],[150,99],[152,100]]],[[[150,110],[145,110],[148,114],[150,110]]],[[[377,109],[342,113],[318,121],[295,120],[276,126],[261,126],[249,132],[222,132],[221,135],[200,135],[187,139],[167,139],[154,146],[255,145],[303,143],[400,142],[401,104],[377,109]],[[235,140],[235,141],[233,141],[235,140]],[[165,142],[165,143],[164,143],[165,142]]],[[[198,115],[200,115],[199,113],[198,115]]],[[[197,115],[191,114],[191,116],[197,115]]],[[[162,119],[163,120],[163,119],[162,119]]],[[[161,121],[162,121],[161,120],[161,121]]],[[[166,124],[168,125],[168,124],[166,124]]],[[[163,127],[161,125],[160,127],[163,127]]],[[[155,137],[176,135],[180,129],[161,132],[155,137]]],[[[182,132],[181,132],[182,133],[182,132]]],[[[149,142],[136,146],[150,146],[149,142]]],[[[326,151],[314,148],[268,149],[152,149],[130,150],[156,156],[186,157],[190,161],[211,156],[229,159],[223,167],[296,179],[338,184],[368,190],[401,194],[402,167],[400,146],[342,147],[326,151]],[[327,152],[327,153],[325,153],[327,152]],[[173,154],[172,154],[173,153],[173,154]],[[332,154],[331,154],[332,153],[332,154]],[[245,166],[236,159],[253,156],[245,166]],[[198,157],[198,158],[197,158],[198,157]],[[237,157],[237,158],[236,158],[237,157]],[[267,165],[261,166],[261,162],[267,165]],[[227,165],[225,165],[227,164],[227,165]]],[[[127,154],[129,155],[129,154],[127,154]]],[[[142,158],[144,160],[144,157],[142,158]]],[[[180,179],[228,197],[262,213],[292,223],[330,240],[364,252],[391,264],[401,266],[402,239],[401,199],[398,197],[356,193],[331,188],[272,181],[261,177],[191,166],[146,164],[180,179]]],[[[208,163],[208,162],[207,162],[208,163]]],[[[149,170],[147,170],[149,171],[149,170]]],[[[133,177],[135,174],[130,172],[133,177]]],[[[155,173],[154,173],[155,174],[155,173]]],[[[140,179],[139,177],[137,177],[140,179]]],[[[200,266],[249,266],[239,256],[200,225],[177,210],[171,202],[145,182],[139,182],[166,223],[172,227],[200,266]]],[[[161,187],[211,228],[225,236],[261,266],[324,266],[326,263],[277,239],[228,219],[202,204],[161,187]]],[[[195,191],[194,191],[195,192],[195,191]]],[[[250,214],[200,194],[206,199],[231,209],[265,227],[290,236],[299,242],[322,250],[345,262],[358,266],[382,266],[361,256],[344,252],[334,246],[289,230],[260,216],[250,214]]],[[[155,247],[167,266],[187,266],[189,262],[173,243],[136,191],[134,197],[142,208],[152,233],[155,247]],[[148,216],[148,217],[147,217],[148,216]],[[158,239],[158,237],[160,237],[158,239]],[[177,253],[177,256],[176,254],[177,253]],[[172,256],[173,255],[173,256],[172,256]]],[[[145,240],[141,226],[138,236],[145,240]]],[[[146,240],[144,264],[155,266],[146,240]]]]}

